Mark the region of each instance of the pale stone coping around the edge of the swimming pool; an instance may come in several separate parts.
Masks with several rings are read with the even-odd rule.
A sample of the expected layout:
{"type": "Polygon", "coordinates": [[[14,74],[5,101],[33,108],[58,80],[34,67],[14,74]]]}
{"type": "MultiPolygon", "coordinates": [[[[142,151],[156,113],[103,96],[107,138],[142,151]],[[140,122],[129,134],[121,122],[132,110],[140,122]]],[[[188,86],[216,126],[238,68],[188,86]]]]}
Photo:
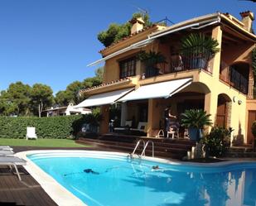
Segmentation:
{"type": "MultiPolygon", "coordinates": [[[[56,204],[60,206],[71,206],[71,205],[87,205],[81,199],[77,198],[75,194],[72,194],[68,189],[65,189],[59,182],[57,182],[51,175],[48,175],[45,171],[41,170],[32,160],[27,158],[27,155],[39,154],[39,153],[85,153],[85,154],[100,154],[100,155],[116,155],[116,156],[128,156],[128,153],[116,152],[116,151],[84,151],[84,150],[34,150],[34,151],[21,151],[16,153],[16,156],[27,160],[27,165],[24,168],[30,175],[41,184],[42,189],[53,199],[56,204]]],[[[134,159],[138,159],[135,156],[134,159]]],[[[167,160],[157,157],[143,156],[142,160],[152,160],[159,163],[167,163],[171,165],[193,165],[193,166],[224,166],[224,165],[235,165],[239,163],[256,163],[256,160],[227,160],[221,162],[212,163],[197,163],[197,162],[182,162],[179,160],[167,160]]]]}

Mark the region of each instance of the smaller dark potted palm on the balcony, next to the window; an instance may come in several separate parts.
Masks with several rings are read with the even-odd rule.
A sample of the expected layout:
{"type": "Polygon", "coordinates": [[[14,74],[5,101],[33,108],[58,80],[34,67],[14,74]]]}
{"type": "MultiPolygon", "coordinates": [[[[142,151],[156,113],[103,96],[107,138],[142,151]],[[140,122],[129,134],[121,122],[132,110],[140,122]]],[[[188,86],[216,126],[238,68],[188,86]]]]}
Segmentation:
{"type": "Polygon", "coordinates": [[[138,54],[138,60],[141,60],[146,67],[146,77],[156,76],[159,74],[157,66],[162,63],[167,63],[166,57],[161,52],[142,51],[138,54]]]}

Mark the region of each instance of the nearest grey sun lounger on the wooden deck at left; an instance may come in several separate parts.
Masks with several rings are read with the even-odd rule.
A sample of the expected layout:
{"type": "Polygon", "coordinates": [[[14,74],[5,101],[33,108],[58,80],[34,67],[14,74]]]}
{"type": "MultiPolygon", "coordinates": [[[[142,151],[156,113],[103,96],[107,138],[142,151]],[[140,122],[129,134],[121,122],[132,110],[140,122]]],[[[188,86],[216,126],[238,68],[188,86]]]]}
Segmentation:
{"type": "Polygon", "coordinates": [[[9,166],[11,169],[12,167],[14,167],[15,175],[17,175],[18,179],[21,181],[21,175],[19,173],[19,171],[17,170],[17,166],[18,165],[26,165],[27,161],[26,160],[22,160],[21,158],[17,157],[17,156],[0,156],[0,165],[2,166],[9,166]]]}

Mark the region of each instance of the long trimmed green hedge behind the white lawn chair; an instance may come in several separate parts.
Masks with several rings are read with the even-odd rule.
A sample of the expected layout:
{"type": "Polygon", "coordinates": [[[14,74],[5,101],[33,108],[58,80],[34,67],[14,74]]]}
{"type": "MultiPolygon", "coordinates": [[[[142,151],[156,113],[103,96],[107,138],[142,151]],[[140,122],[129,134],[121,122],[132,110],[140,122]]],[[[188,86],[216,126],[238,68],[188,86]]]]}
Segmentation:
{"type": "Polygon", "coordinates": [[[74,134],[73,124],[82,115],[60,117],[0,117],[0,138],[25,138],[27,127],[36,127],[38,138],[64,139],[74,134]]]}

